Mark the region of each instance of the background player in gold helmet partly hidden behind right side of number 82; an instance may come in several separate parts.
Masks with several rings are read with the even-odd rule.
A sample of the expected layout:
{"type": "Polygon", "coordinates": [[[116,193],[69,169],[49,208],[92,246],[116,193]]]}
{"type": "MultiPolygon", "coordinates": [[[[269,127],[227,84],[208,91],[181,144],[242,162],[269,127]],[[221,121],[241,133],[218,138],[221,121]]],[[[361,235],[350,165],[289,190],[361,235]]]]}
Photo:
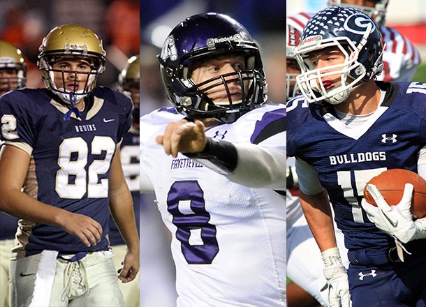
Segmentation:
{"type": "MultiPolygon", "coordinates": [[[[133,200],[133,211],[135,212],[136,226],[139,230],[139,56],[136,55],[128,59],[126,67],[119,75],[118,89],[131,98],[133,102],[132,126],[128,133],[124,134],[122,144],[120,144],[120,158],[124,176],[133,200]]],[[[110,244],[114,253],[115,267],[120,267],[126,255],[126,242],[123,240],[117,225],[110,218],[110,244]]],[[[130,283],[119,283],[123,292],[126,307],[139,307],[139,276],[130,283]]]]}

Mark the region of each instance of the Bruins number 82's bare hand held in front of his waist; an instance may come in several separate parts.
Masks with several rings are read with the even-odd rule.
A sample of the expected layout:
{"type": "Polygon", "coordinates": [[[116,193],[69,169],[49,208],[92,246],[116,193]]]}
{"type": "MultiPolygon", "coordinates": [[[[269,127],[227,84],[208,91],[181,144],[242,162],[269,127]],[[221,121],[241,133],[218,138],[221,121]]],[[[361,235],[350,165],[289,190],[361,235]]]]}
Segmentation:
{"type": "Polygon", "coordinates": [[[98,244],[102,239],[102,226],[93,218],[83,214],[66,213],[59,219],[59,226],[78,237],[87,247],[98,244]]]}

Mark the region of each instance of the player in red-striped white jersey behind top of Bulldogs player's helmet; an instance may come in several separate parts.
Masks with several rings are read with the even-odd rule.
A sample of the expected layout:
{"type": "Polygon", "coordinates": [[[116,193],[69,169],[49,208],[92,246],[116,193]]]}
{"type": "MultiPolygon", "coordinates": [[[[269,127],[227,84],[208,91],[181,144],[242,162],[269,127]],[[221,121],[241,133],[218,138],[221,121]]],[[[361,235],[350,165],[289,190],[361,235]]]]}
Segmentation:
{"type": "MultiPolygon", "coordinates": [[[[388,0],[328,0],[328,6],[353,6],[376,22],[383,37],[383,71],[376,80],[408,82],[413,80],[421,62],[416,47],[397,30],[384,25],[388,0]]],[[[298,13],[287,17],[287,24],[300,32],[313,14],[298,13]]]]}

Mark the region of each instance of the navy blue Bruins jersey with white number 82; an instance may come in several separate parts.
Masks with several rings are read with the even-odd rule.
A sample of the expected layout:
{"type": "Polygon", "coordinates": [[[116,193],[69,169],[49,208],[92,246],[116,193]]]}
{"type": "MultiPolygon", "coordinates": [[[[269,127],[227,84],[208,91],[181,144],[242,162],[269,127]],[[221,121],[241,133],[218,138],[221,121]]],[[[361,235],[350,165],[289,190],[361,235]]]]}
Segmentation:
{"type": "Polygon", "coordinates": [[[108,248],[108,182],[117,144],[131,127],[131,100],[104,87],[85,99],[78,118],[64,120],[66,105],[47,89],[20,89],[0,98],[1,137],[34,157],[37,200],[76,214],[103,227],[103,239],[86,247],[61,227],[35,224],[25,255],[41,250],[74,253],[108,248]]]}

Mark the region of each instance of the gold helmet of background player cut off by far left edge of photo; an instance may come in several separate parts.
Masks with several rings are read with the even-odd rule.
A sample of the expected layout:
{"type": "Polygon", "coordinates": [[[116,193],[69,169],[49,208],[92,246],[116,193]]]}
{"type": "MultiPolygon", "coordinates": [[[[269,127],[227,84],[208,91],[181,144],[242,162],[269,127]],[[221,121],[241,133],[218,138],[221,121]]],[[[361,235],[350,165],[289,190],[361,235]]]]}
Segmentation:
{"type": "Polygon", "coordinates": [[[27,66],[21,50],[0,40],[0,96],[27,83],[27,66]]]}

